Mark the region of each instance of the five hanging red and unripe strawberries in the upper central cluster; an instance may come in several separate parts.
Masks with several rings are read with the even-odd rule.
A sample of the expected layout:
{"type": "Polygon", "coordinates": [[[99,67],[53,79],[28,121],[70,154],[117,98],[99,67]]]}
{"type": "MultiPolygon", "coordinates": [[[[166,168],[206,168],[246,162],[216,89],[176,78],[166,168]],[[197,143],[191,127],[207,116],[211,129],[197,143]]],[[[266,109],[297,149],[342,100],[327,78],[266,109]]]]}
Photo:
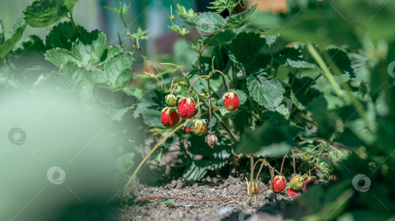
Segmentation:
{"type": "MultiPolygon", "coordinates": [[[[191,119],[195,116],[196,105],[193,98],[181,97],[178,102],[178,110],[174,107],[177,104],[177,97],[174,94],[168,94],[165,97],[168,106],[163,108],[160,121],[166,128],[172,128],[178,124],[179,117],[191,119]]],[[[223,105],[228,111],[236,111],[239,106],[239,100],[236,92],[229,92],[223,95],[223,105]]],[[[193,121],[193,132],[197,136],[202,136],[207,132],[207,120],[195,119],[193,121]]]]}

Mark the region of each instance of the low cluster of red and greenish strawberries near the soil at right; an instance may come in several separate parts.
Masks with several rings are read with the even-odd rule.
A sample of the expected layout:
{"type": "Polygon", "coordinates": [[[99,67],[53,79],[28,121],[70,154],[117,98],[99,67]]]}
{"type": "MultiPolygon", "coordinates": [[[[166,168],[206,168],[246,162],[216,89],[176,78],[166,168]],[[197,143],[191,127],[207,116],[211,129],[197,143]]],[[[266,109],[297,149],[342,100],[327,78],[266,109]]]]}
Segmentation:
{"type": "Polygon", "coordinates": [[[287,187],[287,195],[290,198],[294,198],[296,194],[299,193],[300,190],[306,191],[306,186],[309,183],[316,184],[316,179],[312,176],[300,176],[295,175],[288,183],[284,176],[275,176],[272,184],[272,190],[275,193],[280,193],[285,190],[287,187]]]}

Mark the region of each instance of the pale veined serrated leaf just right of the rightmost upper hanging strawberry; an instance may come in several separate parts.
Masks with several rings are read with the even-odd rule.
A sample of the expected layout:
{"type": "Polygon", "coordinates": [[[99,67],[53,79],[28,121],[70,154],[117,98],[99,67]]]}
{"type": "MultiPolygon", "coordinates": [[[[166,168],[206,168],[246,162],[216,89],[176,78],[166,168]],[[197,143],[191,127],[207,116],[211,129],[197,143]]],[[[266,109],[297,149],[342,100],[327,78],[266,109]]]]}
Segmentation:
{"type": "Polygon", "coordinates": [[[275,101],[282,97],[285,89],[279,81],[266,73],[247,78],[247,87],[254,101],[268,109],[275,108],[275,101]]]}

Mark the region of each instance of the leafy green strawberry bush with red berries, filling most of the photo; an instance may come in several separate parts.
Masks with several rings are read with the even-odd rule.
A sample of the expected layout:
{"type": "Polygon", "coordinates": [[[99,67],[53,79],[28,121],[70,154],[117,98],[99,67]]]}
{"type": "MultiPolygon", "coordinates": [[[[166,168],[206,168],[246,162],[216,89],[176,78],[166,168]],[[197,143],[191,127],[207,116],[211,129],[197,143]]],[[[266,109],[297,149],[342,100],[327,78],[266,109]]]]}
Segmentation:
{"type": "Polygon", "coordinates": [[[150,58],[142,43],[150,31],[125,23],[130,5],[106,7],[127,32],[115,45],[75,23],[77,1],[36,0],[6,34],[0,23],[0,91],[64,92],[110,119],[120,198],[133,198],[128,187],[147,161],[161,175],[146,181],[163,180],[161,157],[176,150],[173,178],[198,182],[248,165],[240,195],[269,189],[259,188],[261,175],[277,194],[303,192],[303,219],[391,219],[394,2],[287,1],[286,14],[237,12],[248,0],[214,0],[202,13],[177,3],[168,28],[188,50],[150,58]],[[56,22],[45,40],[30,34],[16,45],[27,25],[56,22]],[[132,69],[136,60],[143,71],[132,69]]]}

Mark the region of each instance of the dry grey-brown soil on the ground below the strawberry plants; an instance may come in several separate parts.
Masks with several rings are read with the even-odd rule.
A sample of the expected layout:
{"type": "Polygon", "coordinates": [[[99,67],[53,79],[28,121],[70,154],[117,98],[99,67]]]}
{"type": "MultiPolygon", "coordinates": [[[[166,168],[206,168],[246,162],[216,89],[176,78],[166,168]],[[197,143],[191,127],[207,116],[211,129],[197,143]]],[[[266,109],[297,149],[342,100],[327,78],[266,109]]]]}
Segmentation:
{"type": "MultiPolygon", "coordinates": [[[[260,183],[260,189],[264,184],[260,183]]],[[[268,185],[268,184],[266,184],[268,185]]],[[[229,175],[226,179],[208,177],[200,183],[190,184],[181,179],[172,180],[160,187],[148,187],[134,183],[128,189],[137,197],[179,196],[189,198],[222,198],[243,195],[232,200],[188,201],[175,199],[172,203],[158,203],[160,200],[125,205],[114,210],[113,219],[120,221],[280,221],[284,208],[291,200],[285,193],[266,191],[249,199],[243,177],[229,175]]]]}

